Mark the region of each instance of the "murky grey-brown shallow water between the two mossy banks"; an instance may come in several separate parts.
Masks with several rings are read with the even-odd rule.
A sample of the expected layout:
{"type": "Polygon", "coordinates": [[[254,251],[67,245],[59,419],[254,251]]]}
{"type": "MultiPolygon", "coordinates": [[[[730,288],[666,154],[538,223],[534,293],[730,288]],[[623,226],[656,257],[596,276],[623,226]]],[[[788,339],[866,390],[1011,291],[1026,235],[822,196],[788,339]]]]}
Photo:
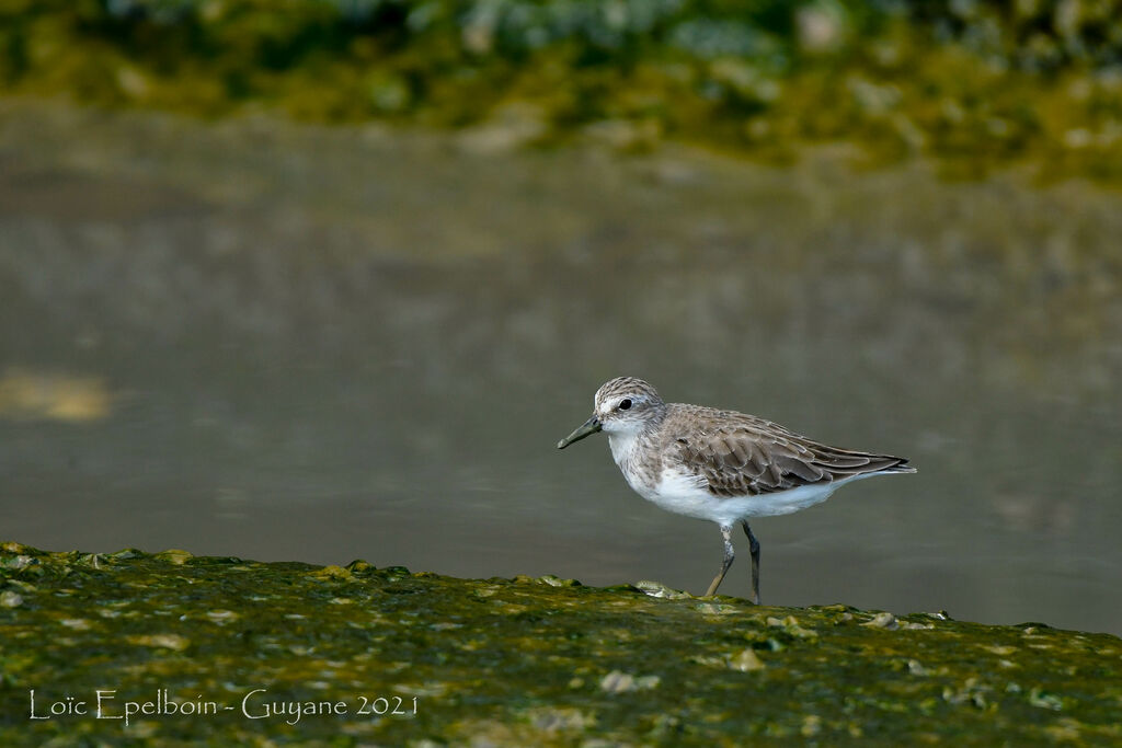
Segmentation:
{"type": "Polygon", "coordinates": [[[700,593],[554,449],[629,373],[919,468],[753,523],[765,602],[1122,632],[1122,197],[478,144],[4,103],[2,535],[700,593]]]}

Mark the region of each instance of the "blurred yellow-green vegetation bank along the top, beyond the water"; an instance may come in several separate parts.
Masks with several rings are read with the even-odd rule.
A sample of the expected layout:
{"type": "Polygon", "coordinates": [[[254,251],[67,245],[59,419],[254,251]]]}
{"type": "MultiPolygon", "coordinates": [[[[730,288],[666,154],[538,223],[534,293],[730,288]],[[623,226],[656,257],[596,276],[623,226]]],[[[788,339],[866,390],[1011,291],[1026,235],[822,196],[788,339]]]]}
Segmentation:
{"type": "Polygon", "coordinates": [[[9,0],[0,91],[1122,178],[1122,0],[9,0]]]}

